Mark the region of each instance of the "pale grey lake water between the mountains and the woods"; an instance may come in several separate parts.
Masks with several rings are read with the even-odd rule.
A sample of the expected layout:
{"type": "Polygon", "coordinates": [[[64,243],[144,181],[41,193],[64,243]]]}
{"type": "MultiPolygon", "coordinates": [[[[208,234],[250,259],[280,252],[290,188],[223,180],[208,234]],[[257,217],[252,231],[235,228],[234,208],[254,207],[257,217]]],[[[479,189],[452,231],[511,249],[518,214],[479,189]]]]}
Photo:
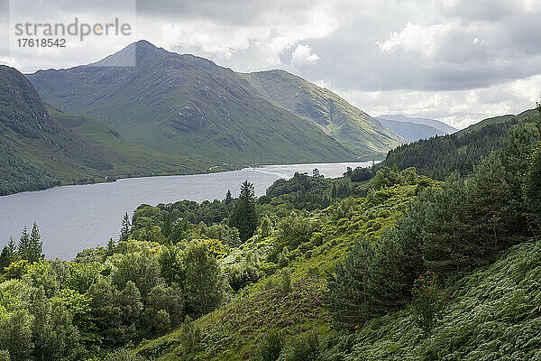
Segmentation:
{"type": "Polygon", "coordinates": [[[241,171],[134,178],[65,186],[0,197],[0,245],[13,236],[18,242],[23,227],[38,224],[43,252],[48,259],[72,259],[88,247],[106,245],[117,238],[125,212],[132,213],[142,203],[156,205],[181,199],[224,199],[227,190],[238,196],[244,180],[254,184],[257,196],[280,178],[298,172],[311,174],[317,168],[327,178],[341,176],[347,167],[367,167],[371,162],[268,165],[241,171]]]}

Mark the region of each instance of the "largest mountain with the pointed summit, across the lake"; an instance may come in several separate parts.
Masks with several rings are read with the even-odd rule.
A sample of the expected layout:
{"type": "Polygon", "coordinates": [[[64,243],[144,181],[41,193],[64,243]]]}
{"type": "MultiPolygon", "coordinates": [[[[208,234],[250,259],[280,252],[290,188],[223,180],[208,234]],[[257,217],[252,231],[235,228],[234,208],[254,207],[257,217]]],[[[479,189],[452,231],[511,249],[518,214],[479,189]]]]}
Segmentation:
{"type": "MultiPolygon", "coordinates": [[[[263,97],[243,75],[149,42],[94,64],[27,77],[63,112],[102,119],[129,143],[161,153],[243,164],[337,162],[358,155],[323,125],[263,97]],[[115,66],[130,59],[136,66],[115,66]]],[[[385,140],[385,128],[380,132],[381,143],[366,144],[371,152],[399,143],[385,140]]]]}

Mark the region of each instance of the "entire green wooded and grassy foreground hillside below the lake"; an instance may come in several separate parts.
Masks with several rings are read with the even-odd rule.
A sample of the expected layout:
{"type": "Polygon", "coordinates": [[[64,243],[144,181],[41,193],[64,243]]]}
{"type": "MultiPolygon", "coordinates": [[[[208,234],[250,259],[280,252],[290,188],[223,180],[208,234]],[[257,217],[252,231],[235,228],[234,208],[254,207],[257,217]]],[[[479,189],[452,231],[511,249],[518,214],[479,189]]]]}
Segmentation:
{"type": "Polygon", "coordinates": [[[246,180],[237,199],[144,204],[72,261],[23,229],[0,255],[0,360],[539,358],[528,121],[414,143],[377,171],[297,173],[260,198],[246,180]],[[460,142],[465,168],[454,151],[392,161],[460,142]]]}

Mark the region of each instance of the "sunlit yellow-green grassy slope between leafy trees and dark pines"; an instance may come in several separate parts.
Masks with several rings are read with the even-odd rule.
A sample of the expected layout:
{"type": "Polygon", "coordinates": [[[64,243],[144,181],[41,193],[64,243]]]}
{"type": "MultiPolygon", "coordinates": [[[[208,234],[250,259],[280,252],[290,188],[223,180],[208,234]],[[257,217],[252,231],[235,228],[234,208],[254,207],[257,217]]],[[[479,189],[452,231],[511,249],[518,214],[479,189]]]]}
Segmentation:
{"type": "MultiPolygon", "coordinates": [[[[288,334],[298,334],[307,329],[330,332],[323,298],[325,275],[358,237],[377,239],[381,233],[396,224],[406,208],[408,199],[415,194],[415,187],[396,187],[378,192],[371,200],[351,199],[349,206],[331,206],[322,211],[318,218],[324,221],[322,239],[307,256],[298,249],[295,261],[288,269],[293,281],[292,292],[282,292],[280,273],[274,273],[253,284],[225,307],[215,310],[202,319],[199,325],[204,329],[201,359],[242,360],[252,355],[259,338],[270,329],[283,329],[288,334]],[[340,209],[351,207],[345,218],[335,220],[333,214],[340,209]],[[277,287],[265,291],[265,284],[272,282],[277,287]]],[[[234,249],[222,262],[235,264],[243,262],[243,255],[252,252],[264,259],[270,239],[247,243],[241,249],[234,249]]],[[[145,356],[158,356],[159,360],[179,359],[182,347],[179,345],[180,330],[167,336],[142,343],[137,351],[145,356]]]]}

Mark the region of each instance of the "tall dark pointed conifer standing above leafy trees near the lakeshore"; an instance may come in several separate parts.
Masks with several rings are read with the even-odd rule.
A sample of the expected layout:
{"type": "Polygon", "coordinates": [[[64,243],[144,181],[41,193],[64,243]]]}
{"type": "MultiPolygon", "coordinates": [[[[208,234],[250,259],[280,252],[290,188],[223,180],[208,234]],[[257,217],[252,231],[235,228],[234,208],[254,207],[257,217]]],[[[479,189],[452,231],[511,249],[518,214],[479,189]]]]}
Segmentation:
{"type": "Polygon", "coordinates": [[[234,203],[233,213],[229,219],[229,226],[239,230],[241,240],[245,242],[253,236],[258,225],[255,211],[255,192],[253,184],[245,180],[241,186],[239,199],[234,203]]]}

